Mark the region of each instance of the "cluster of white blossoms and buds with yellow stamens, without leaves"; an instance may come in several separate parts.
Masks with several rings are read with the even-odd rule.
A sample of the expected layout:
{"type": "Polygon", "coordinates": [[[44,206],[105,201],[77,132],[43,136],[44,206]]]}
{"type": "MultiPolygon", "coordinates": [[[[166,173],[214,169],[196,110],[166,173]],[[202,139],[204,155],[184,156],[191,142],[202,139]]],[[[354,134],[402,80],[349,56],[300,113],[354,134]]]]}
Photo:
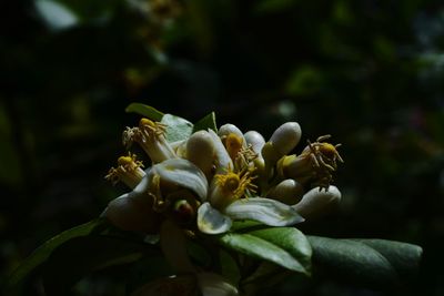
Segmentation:
{"type": "Polygon", "coordinates": [[[196,273],[198,282],[206,275],[188,258],[186,235],[223,234],[234,221],[245,220],[290,226],[341,198],[331,183],[343,160],[339,145],[325,142],[330,135],[309,141],[300,154],[290,154],[301,140],[296,122],[279,126],[268,142],[260,133],[242,133],[233,124],[171,142],[169,127],[149,119],[127,127],[123,145],[130,150],[138,144],[151,165],[143,170],[132,153],[119,157],[107,178],[132,191],[111,201],[102,215],[125,231],[160,234],[172,266],[178,273],[196,273]]]}

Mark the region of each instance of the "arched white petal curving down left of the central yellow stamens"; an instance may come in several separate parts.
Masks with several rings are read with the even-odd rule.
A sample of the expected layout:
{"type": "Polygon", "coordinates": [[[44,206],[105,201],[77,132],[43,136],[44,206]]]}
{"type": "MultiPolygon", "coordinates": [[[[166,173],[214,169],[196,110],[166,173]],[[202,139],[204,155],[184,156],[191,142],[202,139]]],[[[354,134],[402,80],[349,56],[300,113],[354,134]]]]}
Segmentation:
{"type": "Polygon", "coordinates": [[[171,159],[152,166],[151,174],[196,193],[201,201],[206,198],[208,182],[198,166],[182,159],[171,159]]]}

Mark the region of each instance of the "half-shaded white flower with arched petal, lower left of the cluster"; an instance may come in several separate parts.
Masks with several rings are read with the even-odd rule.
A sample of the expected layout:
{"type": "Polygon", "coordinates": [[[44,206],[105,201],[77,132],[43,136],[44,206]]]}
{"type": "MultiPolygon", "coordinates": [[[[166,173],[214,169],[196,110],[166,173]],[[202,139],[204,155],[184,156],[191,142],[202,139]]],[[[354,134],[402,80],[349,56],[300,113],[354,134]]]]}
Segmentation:
{"type": "Polygon", "coordinates": [[[185,222],[183,215],[194,217],[206,195],[206,177],[199,167],[171,159],[147,170],[134,190],[111,201],[102,215],[125,231],[157,233],[164,215],[179,215],[185,222]]]}

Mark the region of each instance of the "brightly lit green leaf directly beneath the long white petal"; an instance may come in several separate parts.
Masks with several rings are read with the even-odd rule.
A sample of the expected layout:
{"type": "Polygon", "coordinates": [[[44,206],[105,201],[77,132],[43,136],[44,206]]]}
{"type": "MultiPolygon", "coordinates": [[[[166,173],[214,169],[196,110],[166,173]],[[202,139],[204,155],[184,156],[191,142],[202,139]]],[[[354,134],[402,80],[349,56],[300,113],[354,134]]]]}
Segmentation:
{"type": "Polygon", "coordinates": [[[305,236],[292,227],[272,227],[245,234],[219,236],[220,243],[245,255],[310,274],[311,247],[305,236]]]}

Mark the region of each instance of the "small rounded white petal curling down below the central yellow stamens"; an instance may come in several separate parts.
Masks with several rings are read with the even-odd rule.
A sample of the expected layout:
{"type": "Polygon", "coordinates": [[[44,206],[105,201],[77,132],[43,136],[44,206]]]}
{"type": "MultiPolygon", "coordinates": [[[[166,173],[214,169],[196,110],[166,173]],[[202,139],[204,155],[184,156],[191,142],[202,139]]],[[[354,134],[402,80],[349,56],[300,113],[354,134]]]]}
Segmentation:
{"type": "Polygon", "coordinates": [[[202,204],[198,210],[198,227],[206,234],[220,234],[231,228],[232,221],[209,203],[202,204]]]}

